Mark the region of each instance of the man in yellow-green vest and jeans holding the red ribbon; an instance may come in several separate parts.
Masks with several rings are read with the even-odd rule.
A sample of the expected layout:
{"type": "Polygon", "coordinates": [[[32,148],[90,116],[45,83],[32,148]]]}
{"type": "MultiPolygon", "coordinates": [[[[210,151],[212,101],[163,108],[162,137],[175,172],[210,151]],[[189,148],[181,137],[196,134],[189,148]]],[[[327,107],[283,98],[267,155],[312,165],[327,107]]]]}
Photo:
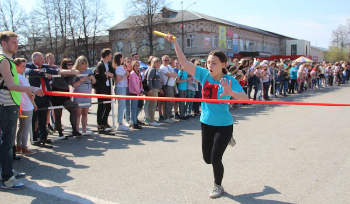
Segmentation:
{"type": "Polygon", "coordinates": [[[43,91],[34,86],[21,86],[16,66],[12,55],[18,50],[18,35],[11,31],[0,32],[0,164],[1,164],[1,188],[22,189],[25,184],[18,182],[17,178],[25,177],[25,174],[14,175],[13,171],[13,147],[16,137],[16,127],[19,105],[21,104],[20,92],[32,92],[37,96],[43,96],[43,91]]]}

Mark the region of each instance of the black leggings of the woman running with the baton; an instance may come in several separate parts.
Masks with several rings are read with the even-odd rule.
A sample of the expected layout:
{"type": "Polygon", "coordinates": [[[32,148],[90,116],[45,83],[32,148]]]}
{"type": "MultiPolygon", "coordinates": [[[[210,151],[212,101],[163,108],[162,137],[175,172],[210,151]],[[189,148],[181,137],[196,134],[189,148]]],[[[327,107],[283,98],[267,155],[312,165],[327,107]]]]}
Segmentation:
{"type": "Polygon", "coordinates": [[[224,176],[222,156],[229,144],[233,125],[211,126],[201,123],[202,126],[202,151],[205,163],[212,164],[215,184],[221,185],[224,176]]]}

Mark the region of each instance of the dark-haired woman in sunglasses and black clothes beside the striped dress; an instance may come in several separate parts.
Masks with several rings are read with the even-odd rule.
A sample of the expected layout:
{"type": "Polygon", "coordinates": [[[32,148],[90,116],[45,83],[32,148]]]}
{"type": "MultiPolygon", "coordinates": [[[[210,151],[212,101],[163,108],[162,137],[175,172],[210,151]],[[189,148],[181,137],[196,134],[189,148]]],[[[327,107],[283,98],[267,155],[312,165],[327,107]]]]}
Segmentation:
{"type": "MultiPolygon", "coordinates": [[[[80,72],[78,70],[72,70],[73,68],[73,61],[69,58],[64,58],[61,62],[61,68],[64,70],[71,70],[72,75],[79,75],[80,72]]],[[[52,91],[64,91],[69,92],[69,85],[73,83],[73,77],[72,76],[66,76],[63,75],[62,78],[55,77],[52,79],[52,91]]],[[[70,100],[70,97],[63,97],[63,96],[52,96],[52,105],[53,106],[64,106],[65,109],[67,109],[70,113],[70,123],[72,125],[73,135],[77,137],[81,137],[82,134],[79,133],[77,130],[77,117],[75,113],[75,107],[73,102],[70,100]]],[[[57,108],[54,110],[55,112],[55,128],[58,131],[59,136],[64,136],[62,131],[62,123],[61,123],[61,117],[62,117],[62,108],[57,108]]]]}

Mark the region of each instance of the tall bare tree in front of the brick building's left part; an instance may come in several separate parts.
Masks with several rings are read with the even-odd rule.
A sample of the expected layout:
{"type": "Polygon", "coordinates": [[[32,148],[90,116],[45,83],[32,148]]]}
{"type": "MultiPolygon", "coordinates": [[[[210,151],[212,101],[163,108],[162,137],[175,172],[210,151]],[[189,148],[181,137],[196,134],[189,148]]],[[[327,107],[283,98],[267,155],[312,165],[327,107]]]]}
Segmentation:
{"type": "Polygon", "coordinates": [[[131,0],[128,1],[126,15],[130,17],[130,41],[137,43],[137,47],[147,47],[148,56],[153,55],[159,41],[153,34],[154,30],[168,27],[168,22],[162,18],[161,9],[166,7],[166,0],[131,0]],[[135,15],[137,14],[137,15],[135,15]],[[136,29],[137,28],[137,29],[136,29]],[[132,37],[134,36],[134,37],[132,37]],[[147,40],[142,40],[146,37],[147,40]]]}

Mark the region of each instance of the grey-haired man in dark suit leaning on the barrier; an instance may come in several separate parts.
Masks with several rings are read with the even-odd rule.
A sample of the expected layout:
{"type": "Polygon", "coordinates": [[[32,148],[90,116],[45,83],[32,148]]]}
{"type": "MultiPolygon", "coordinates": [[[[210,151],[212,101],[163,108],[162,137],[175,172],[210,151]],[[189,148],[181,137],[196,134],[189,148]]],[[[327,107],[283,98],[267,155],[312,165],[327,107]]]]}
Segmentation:
{"type": "MultiPolygon", "coordinates": [[[[52,75],[57,74],[71,74],[71,70],[55,70],[51,69],[48,65],[44,65],[44,57],[40,52],[34,52],[31,55],[31,63],[26,64],[26,75],[29,75],[29,84],[31,86],[41,87],[41,82],[45,85],[47,91],[50,91],[50,80],[52,75]]],[[[38,108],[47,108],[50,106],[50,97],[36,97],[35,104],[38,108]]],[[[48,132],[46,130],[47,124],[47,110],[35,111],[33,113],[32,127],[35,130],[35,123],[38,122],[38,131],[33,131],[33,139],[46,140],[48,132]]]]}

